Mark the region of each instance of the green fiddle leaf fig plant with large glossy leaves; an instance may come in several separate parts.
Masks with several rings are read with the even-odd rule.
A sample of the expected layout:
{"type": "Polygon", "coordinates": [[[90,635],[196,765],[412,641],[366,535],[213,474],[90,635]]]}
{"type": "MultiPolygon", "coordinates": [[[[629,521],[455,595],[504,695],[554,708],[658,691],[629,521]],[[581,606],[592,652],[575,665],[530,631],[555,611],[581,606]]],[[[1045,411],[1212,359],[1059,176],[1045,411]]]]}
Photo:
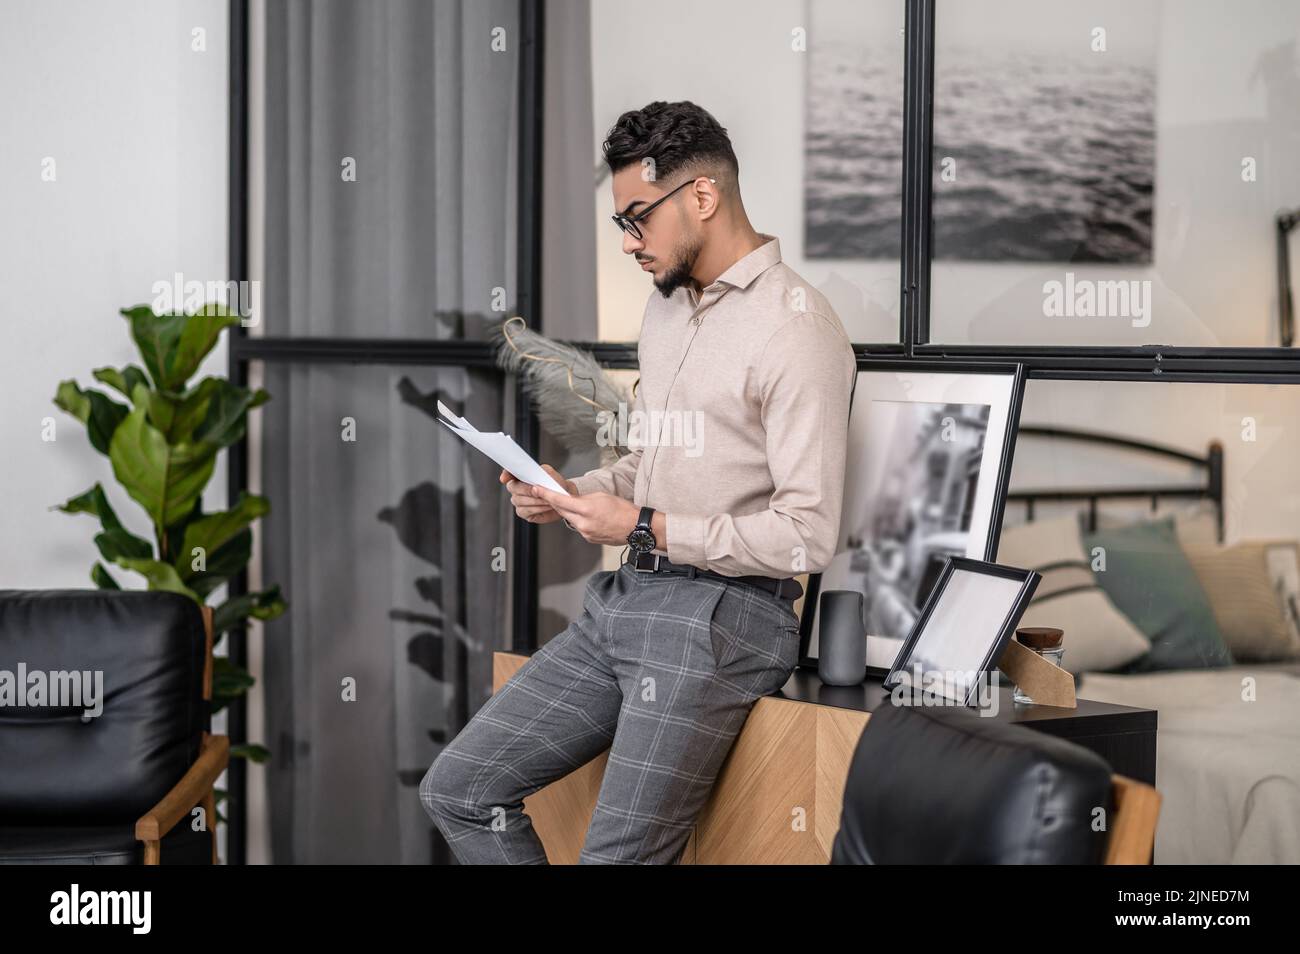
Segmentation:
{"type": "MultiPolygon", "coordinates": [[[[113,477],[148,516],[153,539],[122,525],[98,482],[57,509],[99,520],[100,559],[90,572],[98,587],[121,589],[114,572],[127,571],[151,590],[179,593],[204,606],[247,565],[252,522],[270,512],[266,498],[247,493],[226,511],[204,513],[202,507],[217,454],[243,437],[248,412],[269,395],[220,377],[190,383],[221,333],[239,324],[224,305],[192,315],[155,315],[150,305],[135,305],[121,315],[144,367],[98,368],[92,377],[108,390],[64,381],[55,404],[86,425],[91,447],[108,458],[113,477]]],[[[213,608],[213,637],[220,643],[248,619],[270,620],[285,608],[278,586],[231,597],[213,608]]],[[[213,659],[213,711],[252,685],[244,669],[225,656],[213,659]]],[[[269,753],[235,746],[231,755],[263,762],[269,753]]]]}

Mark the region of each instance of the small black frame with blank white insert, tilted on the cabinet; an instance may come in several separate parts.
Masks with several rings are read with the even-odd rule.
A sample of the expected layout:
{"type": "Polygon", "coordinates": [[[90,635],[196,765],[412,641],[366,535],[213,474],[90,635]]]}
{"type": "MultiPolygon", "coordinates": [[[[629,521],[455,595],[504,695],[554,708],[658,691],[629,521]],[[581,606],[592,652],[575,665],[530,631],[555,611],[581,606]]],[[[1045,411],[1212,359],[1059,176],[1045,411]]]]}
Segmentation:
{"type": "Polygon", "coordinates": [[[946,558],[884,688],[906,686],[970,704],[1041,578],[1032,569],[946,558]]]}

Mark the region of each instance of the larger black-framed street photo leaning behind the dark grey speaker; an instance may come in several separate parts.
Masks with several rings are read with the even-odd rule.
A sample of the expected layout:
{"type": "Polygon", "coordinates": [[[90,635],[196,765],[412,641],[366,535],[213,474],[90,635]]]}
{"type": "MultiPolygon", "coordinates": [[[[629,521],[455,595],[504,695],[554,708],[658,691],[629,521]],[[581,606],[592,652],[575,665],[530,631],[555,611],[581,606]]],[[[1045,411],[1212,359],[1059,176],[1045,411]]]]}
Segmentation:
{"type": "Polygon", "coordinates": [[[863,594],[867,669],[888,671],[948,556],[993,560],[1024,367],[874,360],[849,412],[840,535],[809,577],[801,663],[816,665],[819,594],[863,594]]]}

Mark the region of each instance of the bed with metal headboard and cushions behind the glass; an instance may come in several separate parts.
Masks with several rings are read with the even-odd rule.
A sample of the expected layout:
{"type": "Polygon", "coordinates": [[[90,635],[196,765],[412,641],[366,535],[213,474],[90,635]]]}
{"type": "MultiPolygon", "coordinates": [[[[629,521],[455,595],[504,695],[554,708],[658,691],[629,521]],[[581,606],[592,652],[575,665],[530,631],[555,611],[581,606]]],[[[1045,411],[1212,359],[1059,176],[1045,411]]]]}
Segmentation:
{"type": "MultiPolygon", "coordinates": [[[[1225,545],[1223,451],[1217,443],[1196,455],[1026,425],[1017,476],[1024,473],[1022,460],[1030,480],[1040,482],[1017,486],[1013,480],[1011,522],[1002,530],[997,560],[1044,573],[1022,625],[1066,630],[1066,667],[1080,698],[1157,710],[1156,785],[1164,803],[1154,860],[1300,863],[1300,582],[1274,559],[1287,556],[1295,541],[1225,545]],[[1041,468],[1034,474],[1027,448],[1035,441],[1069,442],[1071,455],[1141,456],[1157,461],[1157,472],[1171,465],[1183,474],[1052,486],[1041,468]],[[1056,512],[1045,516],[1049,508],[1056,512]],[[1122,552],[1124,534],[1141,541],[1131,552],[1122,552]],[[1098,550],[1119,574],[1105,576],[1114,567],[1097,571],[1098,550]],[[1170,572],[1179,555],[1191,577],[1170,572]],[[1117,581],[1136,577],[1149,584],[1126,595],[1117,581]],[[1208,610],[1197,616],[1202,598],[1208,610]],[[1226,655],[1206,639],[1209,630],[1226,655]],[[1166,645],[1171,634],[1182,645],[1166,645]]],[[[1071,476],[1087,472],[1069,469],[1071,476]]],[[[1131,476],[1134,469],[1106,465],[1100,472],[1131,476]]]]}

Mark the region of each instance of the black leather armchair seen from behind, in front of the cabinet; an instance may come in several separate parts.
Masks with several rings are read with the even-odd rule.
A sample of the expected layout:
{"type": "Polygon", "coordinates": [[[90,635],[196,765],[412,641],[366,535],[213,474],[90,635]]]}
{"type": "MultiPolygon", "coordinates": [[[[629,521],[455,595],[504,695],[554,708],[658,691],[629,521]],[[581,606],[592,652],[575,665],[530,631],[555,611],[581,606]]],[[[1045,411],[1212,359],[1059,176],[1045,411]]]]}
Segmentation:
{"type": "Polygon", "coordinates": [[[831,864],[1148,863],[1158,810],[1153,788],[1072,742],[887,704],[854,750],[831,864]]]}

